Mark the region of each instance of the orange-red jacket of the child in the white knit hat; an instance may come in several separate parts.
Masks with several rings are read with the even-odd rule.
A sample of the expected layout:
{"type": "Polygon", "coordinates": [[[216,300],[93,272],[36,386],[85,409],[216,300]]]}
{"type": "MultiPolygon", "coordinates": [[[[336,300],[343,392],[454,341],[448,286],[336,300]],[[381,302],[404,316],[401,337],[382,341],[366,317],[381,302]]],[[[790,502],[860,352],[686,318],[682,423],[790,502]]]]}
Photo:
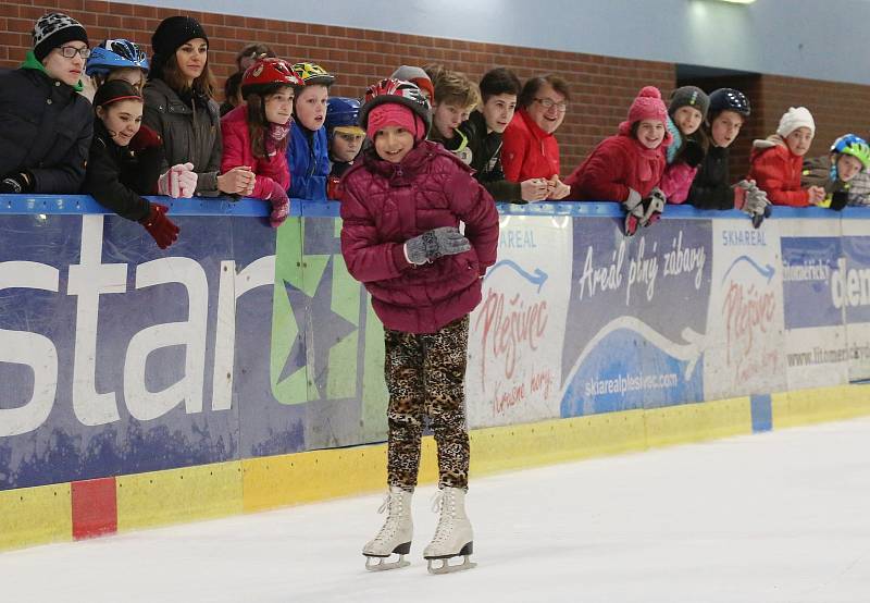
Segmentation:
{"type": "Polygon", "coordinates": [[[809,206],[809,192],[800,188],[803,170],[804,158],[793,153],[779,136],[753,143],[747,177],[768,194],[774,206],[809,206]]]}

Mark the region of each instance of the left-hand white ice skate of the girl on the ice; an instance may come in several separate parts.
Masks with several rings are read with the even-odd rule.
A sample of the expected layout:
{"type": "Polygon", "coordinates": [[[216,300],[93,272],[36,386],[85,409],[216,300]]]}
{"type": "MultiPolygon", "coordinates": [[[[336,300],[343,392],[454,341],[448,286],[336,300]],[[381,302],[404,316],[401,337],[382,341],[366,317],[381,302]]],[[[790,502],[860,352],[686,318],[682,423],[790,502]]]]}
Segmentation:
{"type": "Polygon", "coordinates": [[[414,531],[411,520],[411,494],[395,485],[389,488],[389,494],[377,509],[377,513],[387,512],[384,526],[362,549],[362,554],[365,555],[365,569],[381,571],[411,565],[405,561],[405,555],[411,552],[411,537],[414,531]],[[399,558],[387,561],[394,554],[399,555],[399,558]],[[374,563],[375,559],[377,563],[374,563]]]}

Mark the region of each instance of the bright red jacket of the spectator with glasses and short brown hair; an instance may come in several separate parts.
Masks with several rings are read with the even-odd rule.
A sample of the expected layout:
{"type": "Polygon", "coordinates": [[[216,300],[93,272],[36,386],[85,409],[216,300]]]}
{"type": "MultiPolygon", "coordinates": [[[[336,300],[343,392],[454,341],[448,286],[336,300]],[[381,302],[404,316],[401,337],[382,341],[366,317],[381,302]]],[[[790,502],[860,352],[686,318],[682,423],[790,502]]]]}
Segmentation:
{"type": "Polygon", "coordinates": [[[501,135],[501,168],[511,182],[559,174],[559,141],[518,109],[501,135]]]}

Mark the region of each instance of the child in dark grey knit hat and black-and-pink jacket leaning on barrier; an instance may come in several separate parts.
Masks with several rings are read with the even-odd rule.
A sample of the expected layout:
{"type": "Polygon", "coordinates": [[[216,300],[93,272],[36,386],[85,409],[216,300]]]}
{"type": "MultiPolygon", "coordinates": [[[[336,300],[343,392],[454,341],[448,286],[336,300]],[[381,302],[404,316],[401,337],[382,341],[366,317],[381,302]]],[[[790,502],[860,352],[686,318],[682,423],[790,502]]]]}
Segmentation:
{"type": "Polygon", "coordinates": [[[669,204],[686,200],[698,165],[707,155],[709,143],[701,124],[707,119],[709,107],[710,97],[695,86],[683,86],[671,95],[668,132],[673,136],[673,141],[668,147],[668,167],[659,186],[669,204]]]}

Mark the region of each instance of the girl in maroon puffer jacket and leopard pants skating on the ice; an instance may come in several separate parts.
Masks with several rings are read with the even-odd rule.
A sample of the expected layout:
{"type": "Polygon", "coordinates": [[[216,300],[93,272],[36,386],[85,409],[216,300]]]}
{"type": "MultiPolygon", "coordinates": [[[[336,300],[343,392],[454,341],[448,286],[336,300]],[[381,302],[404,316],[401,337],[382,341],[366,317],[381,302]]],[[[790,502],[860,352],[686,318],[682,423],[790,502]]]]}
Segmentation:
{"type": "Polygon", "coordinates": [[[341,253],[384,323],[389,493],[382,507],[387,519],[362,553],[372,569],[408,565],[411,494],[428,416],[438,447],[440,517],[423,556],[430,571],[465,569],[474,565],[464,509],[469,312],[480,304],[481,279],[496,260],[498,213],[471,169],[424,139],[431,110],[417,85],[384,79],[365,96],[360,124],[372,146],[341,181],[341,253]],[[384,563],[394,553],[398,561],[384,563]],[[447,559],[459,555],[464,562],[449,566],[447,559]],[[433,559],[443,559],[440,567],[433,559]]]}

